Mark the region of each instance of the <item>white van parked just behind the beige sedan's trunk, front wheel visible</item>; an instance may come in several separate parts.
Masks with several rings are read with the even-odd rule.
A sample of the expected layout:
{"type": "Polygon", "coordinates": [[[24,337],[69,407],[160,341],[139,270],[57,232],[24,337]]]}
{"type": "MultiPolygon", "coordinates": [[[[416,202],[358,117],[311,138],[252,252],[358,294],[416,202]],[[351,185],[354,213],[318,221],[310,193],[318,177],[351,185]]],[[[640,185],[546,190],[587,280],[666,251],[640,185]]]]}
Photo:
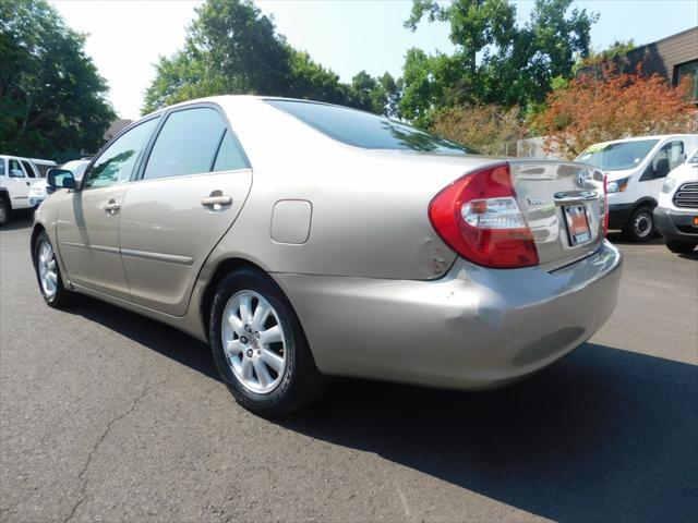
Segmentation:
{"type": "Polygon", "coordinates": [[[575,161],[606,174],[609,227],[622,229],[633,241],[647,242],[655,232],[652,210],[664,179],[696,147],[697,134],[638,136],[594,144],[575,161]]]}

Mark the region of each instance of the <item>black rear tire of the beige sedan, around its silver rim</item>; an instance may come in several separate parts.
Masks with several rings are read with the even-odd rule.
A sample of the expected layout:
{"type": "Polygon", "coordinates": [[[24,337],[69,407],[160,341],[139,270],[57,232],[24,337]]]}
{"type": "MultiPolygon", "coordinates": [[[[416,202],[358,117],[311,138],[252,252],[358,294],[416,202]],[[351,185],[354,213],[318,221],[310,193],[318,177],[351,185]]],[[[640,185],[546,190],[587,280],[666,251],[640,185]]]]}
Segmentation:
{"type": "Polygon", "coordinates": [[[224,278],[214,295],[208,336],[216,367],[240,404],[257,414],[268,416],[282,414],[293,408],[302,380],[298,358],[299,353],[306,350],[306,341],[296,314],[275,282],[268,277],[248,269],[236,271],[224,278]],[[221,325],[225,307],[233,294],[243,290],[254,291],[269,302],[286,333],[287,364],[281,382],[272,392],[265,394],[250,391],[240,384],[230,369],[222,349],[221,325]]]}

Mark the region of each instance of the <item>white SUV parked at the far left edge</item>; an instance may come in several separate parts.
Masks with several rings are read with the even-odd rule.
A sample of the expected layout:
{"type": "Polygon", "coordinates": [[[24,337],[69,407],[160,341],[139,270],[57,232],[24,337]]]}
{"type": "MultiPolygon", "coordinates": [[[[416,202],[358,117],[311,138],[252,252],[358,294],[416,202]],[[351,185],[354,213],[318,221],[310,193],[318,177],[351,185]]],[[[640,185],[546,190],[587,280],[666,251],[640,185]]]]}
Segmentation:
{"type": "Polygon", "coordinates": [[[0,226],[8,222],[13,210],[29,207],[29,190],[40,180],[28,158],[0,155],[0,226]]]}

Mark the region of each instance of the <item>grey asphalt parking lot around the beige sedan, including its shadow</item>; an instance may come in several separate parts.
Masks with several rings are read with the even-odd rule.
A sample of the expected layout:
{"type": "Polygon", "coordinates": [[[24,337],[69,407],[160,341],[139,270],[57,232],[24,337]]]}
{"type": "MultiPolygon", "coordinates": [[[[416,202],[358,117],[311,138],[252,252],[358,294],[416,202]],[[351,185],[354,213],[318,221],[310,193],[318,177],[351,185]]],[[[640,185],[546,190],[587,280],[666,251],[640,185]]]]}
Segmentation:
{"type": "Polygon", "coordinates": [[[28,219],[0,230],[0,520],[696,521],[698,256],[612,240],[618,306],[517,386],[336,380],[280,421],[207,348],[85,299],[44,305],[28,219]]]}

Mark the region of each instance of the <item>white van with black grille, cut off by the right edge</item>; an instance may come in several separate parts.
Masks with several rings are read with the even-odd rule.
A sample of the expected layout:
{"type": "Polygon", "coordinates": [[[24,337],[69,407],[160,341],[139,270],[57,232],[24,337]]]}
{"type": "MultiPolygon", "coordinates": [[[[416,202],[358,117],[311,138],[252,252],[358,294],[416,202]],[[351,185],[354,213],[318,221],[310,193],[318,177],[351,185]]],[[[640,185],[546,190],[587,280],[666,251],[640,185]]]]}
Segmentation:
{"type": "Polygon", "coordinates": [[[698,149],[664,180],[654,220],[672,253],[698,245],[698,149]]]}

